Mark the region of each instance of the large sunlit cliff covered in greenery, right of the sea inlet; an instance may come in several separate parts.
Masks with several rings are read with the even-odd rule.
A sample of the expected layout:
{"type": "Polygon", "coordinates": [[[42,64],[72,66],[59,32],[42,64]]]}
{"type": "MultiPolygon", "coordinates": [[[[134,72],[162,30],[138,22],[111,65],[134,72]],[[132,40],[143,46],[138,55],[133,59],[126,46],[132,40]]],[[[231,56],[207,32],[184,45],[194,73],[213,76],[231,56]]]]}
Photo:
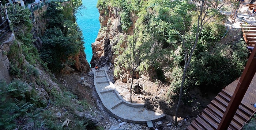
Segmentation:
{"type": "Polygon", "coordinates": [[[195,41],[183,83],[181,117],[196,116],[210,95],[240,77],[245,67],[248,51],[241,30],[225,26],[227,16],[221,12],[227,8],[202,11],[188,0],[98,0],[97,7],[101,29],[90,63],[113,67],[115,85],[130,89],[132,84],[133,100],[142,97],[148,109],[175,115],[195,41]],[[207,13],[198,23],[200,12],[207,13]]]}

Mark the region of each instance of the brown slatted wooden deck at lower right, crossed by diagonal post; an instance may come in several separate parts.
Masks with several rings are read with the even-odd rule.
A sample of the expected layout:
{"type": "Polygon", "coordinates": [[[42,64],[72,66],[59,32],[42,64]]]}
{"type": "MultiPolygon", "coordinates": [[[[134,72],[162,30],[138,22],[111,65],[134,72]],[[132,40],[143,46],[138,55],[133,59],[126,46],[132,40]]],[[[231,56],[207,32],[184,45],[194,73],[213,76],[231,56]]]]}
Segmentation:
{"type": "MultiPolygon", "coordinates": [[[[235,80],[221,90],[206,109],[204,109],[191,125],[187,127],[187,130],[216,130],[229,104],[231,96],[236,89],[238,81],[239,79],[235,80]]],[[[256,75],[254,75],[228,130],[242,129],[244,124],[248,122],[251,116],[256,112],[256,108],[252,105],[254,103],[256,103],[256,75]]]]}

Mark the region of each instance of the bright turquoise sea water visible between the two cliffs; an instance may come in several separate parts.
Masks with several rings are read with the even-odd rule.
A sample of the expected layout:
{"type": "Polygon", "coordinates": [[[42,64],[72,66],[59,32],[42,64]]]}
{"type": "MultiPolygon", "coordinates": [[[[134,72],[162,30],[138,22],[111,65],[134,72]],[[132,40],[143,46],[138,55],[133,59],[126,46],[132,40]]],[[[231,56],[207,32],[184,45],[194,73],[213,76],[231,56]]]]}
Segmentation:
{"type": "Polygon", "coordinates": [[[80,14],[76,15],[76,21],[79,27],[83,31],[84,47],[86,59],[90,63],[93,56],[93,50],[91,49],[91,43],[95,42],[97,38],[100,24],[99,24],[99,11],[96,8],[97,0],[82,0],[85,9],[80,10],[80,14]]]}

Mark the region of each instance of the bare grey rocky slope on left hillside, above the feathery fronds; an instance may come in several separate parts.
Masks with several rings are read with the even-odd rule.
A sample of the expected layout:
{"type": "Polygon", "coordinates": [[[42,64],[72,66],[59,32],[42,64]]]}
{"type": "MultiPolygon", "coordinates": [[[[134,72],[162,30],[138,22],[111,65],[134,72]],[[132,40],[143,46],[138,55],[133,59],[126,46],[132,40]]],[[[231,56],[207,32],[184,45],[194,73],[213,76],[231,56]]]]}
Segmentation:
{"type": "MultiPolygon", "coordinates": [[[[9,35],[7,35],[9,36],[9,35]]],[[[22,51],[15,51],[14,47],[17,44],[21,47],[20,43],[15,39],[14,34],[9,37],[1,39],[2,45],[0,46],[0,81],[10,83],[14,79],[26,80],[29,90],[34,89],[38,95],[40,102],[48,102],[50,92],[56,90],[57,93],[62,93],[59,85],[52,80],[49,72],[45,70],[40,64],[31,65],[27,62],[22,51]],[[9,53],[12,51],[12,53],[9,53]],[[19,58],[19,61],[15,58],[19,58]],[[16,65],[16,73],[11,72],[14,70],[12,65],[16,65]],[[34,73],[35,72],[35,73],[34,73]],[[36,74],[33,75],[33,74],[36,74]],[[36,88],[36,89],[35,89],[36,88]]]]}

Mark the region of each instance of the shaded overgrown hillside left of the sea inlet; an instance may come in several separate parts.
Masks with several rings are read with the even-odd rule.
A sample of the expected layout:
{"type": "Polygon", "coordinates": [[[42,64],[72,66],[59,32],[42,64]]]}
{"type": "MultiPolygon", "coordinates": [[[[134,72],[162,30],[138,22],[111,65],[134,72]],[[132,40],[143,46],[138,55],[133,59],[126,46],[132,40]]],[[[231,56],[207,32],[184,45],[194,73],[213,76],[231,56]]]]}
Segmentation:
{"type": "MultiPolygon", "coordinates": [[[[82,87],[79,76],[91,70],[73,13],[82,1],[74,2],[74,8],[72,1],[51,2],[37,17],[18,4],[7,6],[11,32],[0,43],[0,129],[102,129],[90,112],[90,98],[69,91],[70,84],[82,87]],[[66,83],[74,71],[77,80],[66,83]]],[[[7,18],[4,5],[1,11],[7,18]]]]}

